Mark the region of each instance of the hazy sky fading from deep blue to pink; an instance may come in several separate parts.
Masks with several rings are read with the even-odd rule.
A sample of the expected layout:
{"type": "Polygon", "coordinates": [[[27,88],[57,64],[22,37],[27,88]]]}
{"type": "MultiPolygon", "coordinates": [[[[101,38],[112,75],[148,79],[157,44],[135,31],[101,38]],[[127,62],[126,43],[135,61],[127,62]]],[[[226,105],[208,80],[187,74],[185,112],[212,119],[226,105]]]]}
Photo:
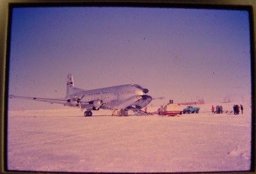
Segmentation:
{"type": "MultiPolygon", "coordinates": [[[[95,89],[138,83],[161,105],[250,101],[247,11],[14,8],[9,94],[65,96],[66,77],[95,89]]],[[[60,108],[12,99],[10,109],[60,108]]]]}

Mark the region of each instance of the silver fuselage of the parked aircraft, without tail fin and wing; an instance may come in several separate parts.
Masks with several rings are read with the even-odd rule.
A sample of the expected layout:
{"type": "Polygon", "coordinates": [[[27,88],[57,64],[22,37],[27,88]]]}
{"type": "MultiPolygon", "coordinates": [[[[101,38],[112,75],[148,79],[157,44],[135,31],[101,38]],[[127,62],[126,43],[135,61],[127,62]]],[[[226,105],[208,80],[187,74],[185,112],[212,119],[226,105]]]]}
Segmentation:
{"type": "MultiPolygon", "coordinates": [[[[101,109],[120,110],[130,105],[134,105],[137,108],[143,108],[152,100],[150,96],[145,95],[147,92],[148,90],[143,89],[140,85],[127,84],[88,91],[79,91],[70,94],[67,97],[81,99],[80,102],[82,108],[86,108],[86,110],[95,110],[95,104],[97,105],[97,101],[102,102],[102,105],[100,106],[101,109]],[[146,99],[148,99],[148,102],[145,102],[146,99]],[[138,103],[138,100],[141,100],[141,102],[138,103]],[[91,106],[84,105],[83,103],[90,103],[91,106]]],[[[79,107],[76,101],[70,104],[79,107]]]]}

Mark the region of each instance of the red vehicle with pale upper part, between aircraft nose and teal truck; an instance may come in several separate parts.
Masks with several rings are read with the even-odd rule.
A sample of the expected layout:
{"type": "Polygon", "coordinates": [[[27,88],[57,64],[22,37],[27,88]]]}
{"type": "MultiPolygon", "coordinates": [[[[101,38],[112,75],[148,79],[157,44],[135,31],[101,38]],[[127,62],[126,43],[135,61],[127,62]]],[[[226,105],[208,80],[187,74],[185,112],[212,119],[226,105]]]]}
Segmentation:
{"type": "Polygon", "coordinates": [[[167,115],[167,116],[176,116],[182,114],[181,106],[175,103],[168,103],[166,105],[162,105],[161,108],[157,110],[158,115],[167,115]]]}

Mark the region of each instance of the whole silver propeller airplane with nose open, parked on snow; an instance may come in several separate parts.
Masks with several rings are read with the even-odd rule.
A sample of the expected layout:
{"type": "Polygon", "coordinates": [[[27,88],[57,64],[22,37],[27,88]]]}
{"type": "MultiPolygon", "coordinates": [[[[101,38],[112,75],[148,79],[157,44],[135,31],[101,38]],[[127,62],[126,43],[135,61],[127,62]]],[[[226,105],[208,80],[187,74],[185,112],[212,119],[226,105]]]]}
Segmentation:
{"type": "MultiPolygon", "coordinates": [[[[71,73],[67,75],[67,94],[65,98],[36,98],[10,95],[9,98],[45,101],[85,109],[84,117],[92,116],[92,110],[118,110],[120,115],[127,116],[128,111],[136,115],[147,114],[141,109],[147,106],[152,97],[146,95],[148,89],[137,84],[118,85],[93,90],[83,90],[74,87],[71,73]]],[[[156,98],[163,99],[163,98],[156,98]]]]}

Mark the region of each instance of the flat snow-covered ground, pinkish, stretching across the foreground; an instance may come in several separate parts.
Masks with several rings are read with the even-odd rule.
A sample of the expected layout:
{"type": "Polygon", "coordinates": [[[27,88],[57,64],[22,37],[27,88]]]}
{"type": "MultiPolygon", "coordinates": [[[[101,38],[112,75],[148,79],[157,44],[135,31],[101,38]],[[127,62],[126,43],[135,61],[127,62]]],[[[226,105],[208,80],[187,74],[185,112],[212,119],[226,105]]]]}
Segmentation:
{"type": "MultiPolygon", "coordinates": [[[[232,110],[225,103],[223,110],[232,110]]],[[[214,106],[216,106],[215,104],[214,106]]],[[[83,117],[76,108],[10,111],[8,169],[76,172],[246,171],[251,161],[251,107],[243,115],[200,113],[83,117]]],[[[148,108],[148,112],[157,108],[148,108]]],[[[132,113],[130,113],[132,114],[132,113]]]]}

